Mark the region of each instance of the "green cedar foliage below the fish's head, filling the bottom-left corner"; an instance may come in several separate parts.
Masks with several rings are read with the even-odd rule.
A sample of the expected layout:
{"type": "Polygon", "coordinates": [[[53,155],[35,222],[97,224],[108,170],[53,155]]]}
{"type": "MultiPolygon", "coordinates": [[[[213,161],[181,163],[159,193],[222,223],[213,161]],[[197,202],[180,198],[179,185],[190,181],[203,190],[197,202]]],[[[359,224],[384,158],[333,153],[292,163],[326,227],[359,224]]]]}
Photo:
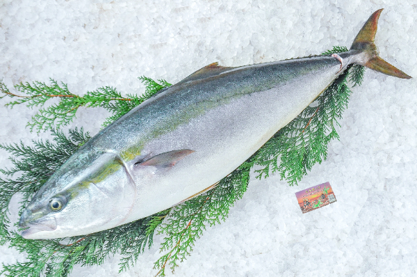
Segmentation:
{"type": "Polygon", "coordinates": [[[12,232],[9,237],[10,247],[16,248],[21,253],[26,252],[28,262],[3,264],[3,271],[0,274],[10,277],[38,277],[43,274],[66,277],[75,264],[83,266],[103,264],[115,253],[124,255],[120,271],[129,269],[129,264],[135,263],[145,246],[152,246],[152,238],[149,234],[153,234],[160,223],[152,225],[152,230],[149,230],[150,222],[155,216],[165,217],[167,212],[169,211],[85,237],[71,237],[67,244],[64,244],[62,239],[24,239],[12,232]]]}

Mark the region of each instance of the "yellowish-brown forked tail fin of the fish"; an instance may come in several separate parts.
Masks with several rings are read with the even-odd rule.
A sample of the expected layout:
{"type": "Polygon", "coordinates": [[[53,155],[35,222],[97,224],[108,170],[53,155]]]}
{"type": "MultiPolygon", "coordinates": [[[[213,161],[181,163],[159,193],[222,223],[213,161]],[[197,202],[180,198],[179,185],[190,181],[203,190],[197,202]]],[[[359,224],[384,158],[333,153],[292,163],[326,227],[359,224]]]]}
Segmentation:
{"type": "Polygon", "coordinates": [[[382,10],[379,9],[373,15],[371,15],[368,21],[363,25],[361,31],[357,34],[356,38],[350,47],[350,50],[361,52],[356,63],[366,66],[371,70],[375,70],[393,77],[402,79],[410,79],[411,76],[405,74],[395,66],[390,65],[382,58],[380,58],[376,45],[374,44],[375,34],[377,33],[377,24],[379,15],[382,10]]]}

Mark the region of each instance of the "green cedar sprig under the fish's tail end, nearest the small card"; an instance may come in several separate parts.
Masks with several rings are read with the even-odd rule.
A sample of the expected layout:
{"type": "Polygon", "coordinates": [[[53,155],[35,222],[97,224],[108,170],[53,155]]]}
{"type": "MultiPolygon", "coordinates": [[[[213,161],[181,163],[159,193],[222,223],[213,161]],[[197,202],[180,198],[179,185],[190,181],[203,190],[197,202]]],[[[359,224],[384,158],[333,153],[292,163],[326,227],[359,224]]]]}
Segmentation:
{"type": "MultiPolygon", "coordinates": [[[[346,47],[334,47],[322,55],[347,52],[346,47]]],[[[279,172],[281,180],[290,185],[297,184],[314,164],[327,158],[327,144],[338,139],[336,125],[347,108],[349,95],[347,86],[350,78],[353,86],[360,85],[364,68],[361,65],[349,65],[343,74],[318,97],[313,105],[307,106],[300,115],[256,152],[255,164],[261,169],[256,177],[268,177],[270,173],[279,172]]]]}

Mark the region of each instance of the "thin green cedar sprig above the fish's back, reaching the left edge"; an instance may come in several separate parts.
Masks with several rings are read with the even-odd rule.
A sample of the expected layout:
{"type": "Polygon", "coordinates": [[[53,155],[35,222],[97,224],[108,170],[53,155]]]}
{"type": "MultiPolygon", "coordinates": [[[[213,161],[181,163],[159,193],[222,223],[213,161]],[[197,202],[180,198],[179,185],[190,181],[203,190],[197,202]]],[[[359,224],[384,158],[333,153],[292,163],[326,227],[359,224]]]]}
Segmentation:
{"type": "Polygon", "coordinates": [[[123,116],[135,106],[138,106],[138,104],[147,100],[162,88],[171,86],[171,84],[165,80],[158,80],[159,83],[157,83],[147,77],[139,77],[139,79],[147,86],[147,90],[142,96],[128,94],[126,97],[122,97],[122,95],[111,86],[97,88],[97,90],[88,91],[85,95],[81,96],[70,93],[67,84],[61,83],[59,85],[54,79],[50,79],[51,85],[49,86],[40,81],[34,81],[32,84],[29,84],[28,82],[17,84],[15,89],[23,95],[10,93],[10,90],[8,90],[6,85],[0,83],[0,92],[5,94],[3,97],[8,95],[10,97],[19,98],[6,104],[6,106],[10,107],[17,104],[26,104],[28,107],[43,106],[48,100],[59,98],[58,104],[52,104],[47,108],[41,108],[38,113],[33,116],[32,121],[28,122],[28,127],[30,127],[31,131],[33,131],[33,129],[36,129],[38,132],[51,128],[59,129],[64,125],[68,125],[74,120],[76,111],[81,106],[101,106],[107,111],[110,111],[112,116],[107,118],[103,123],[103,125],[106,126],[117,118],[120,118],[120,116],[123,116]]]}

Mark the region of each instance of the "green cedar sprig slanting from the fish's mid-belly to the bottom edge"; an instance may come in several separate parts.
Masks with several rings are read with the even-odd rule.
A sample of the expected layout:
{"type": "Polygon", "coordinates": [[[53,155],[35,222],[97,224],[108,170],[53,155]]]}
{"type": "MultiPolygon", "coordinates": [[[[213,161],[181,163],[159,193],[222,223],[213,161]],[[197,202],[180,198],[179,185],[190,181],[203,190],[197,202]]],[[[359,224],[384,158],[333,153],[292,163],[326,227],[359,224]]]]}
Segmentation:
{"type": "Polygon", "coordinates": [[[226,220],[230,207],[243,197],[247,189],[252,166],[253,161],[245,161],[207,193],[173,208],[167,223],[158,230],[158,234],[167,235],[160,252],[170,251],[155,262],[154,269],[159,269],[156,276],[165,276],[167,264],[174,273],[178,262],[185,260],[193,251],[194,242],[206,230],[206,225],[226,220]]]}

